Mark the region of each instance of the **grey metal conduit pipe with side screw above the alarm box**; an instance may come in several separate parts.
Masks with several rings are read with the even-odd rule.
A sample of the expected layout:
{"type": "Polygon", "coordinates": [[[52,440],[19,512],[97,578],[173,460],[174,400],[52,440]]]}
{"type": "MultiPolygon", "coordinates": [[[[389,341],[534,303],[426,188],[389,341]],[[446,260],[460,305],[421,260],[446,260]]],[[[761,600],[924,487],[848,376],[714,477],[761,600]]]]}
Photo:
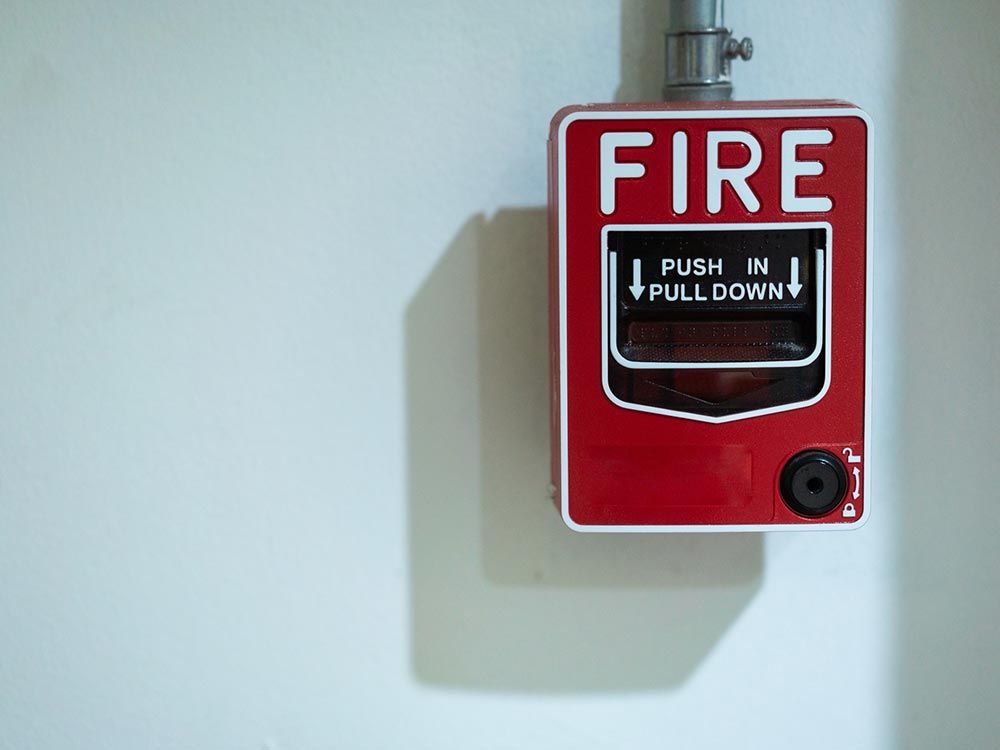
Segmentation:
{"type": "Polygon", "coordinates": [[[666,32],[666,101],[732,98],[731,63],[749,60],[753,42],[726,28],[725,0],[670,0],[666,32]]]}

